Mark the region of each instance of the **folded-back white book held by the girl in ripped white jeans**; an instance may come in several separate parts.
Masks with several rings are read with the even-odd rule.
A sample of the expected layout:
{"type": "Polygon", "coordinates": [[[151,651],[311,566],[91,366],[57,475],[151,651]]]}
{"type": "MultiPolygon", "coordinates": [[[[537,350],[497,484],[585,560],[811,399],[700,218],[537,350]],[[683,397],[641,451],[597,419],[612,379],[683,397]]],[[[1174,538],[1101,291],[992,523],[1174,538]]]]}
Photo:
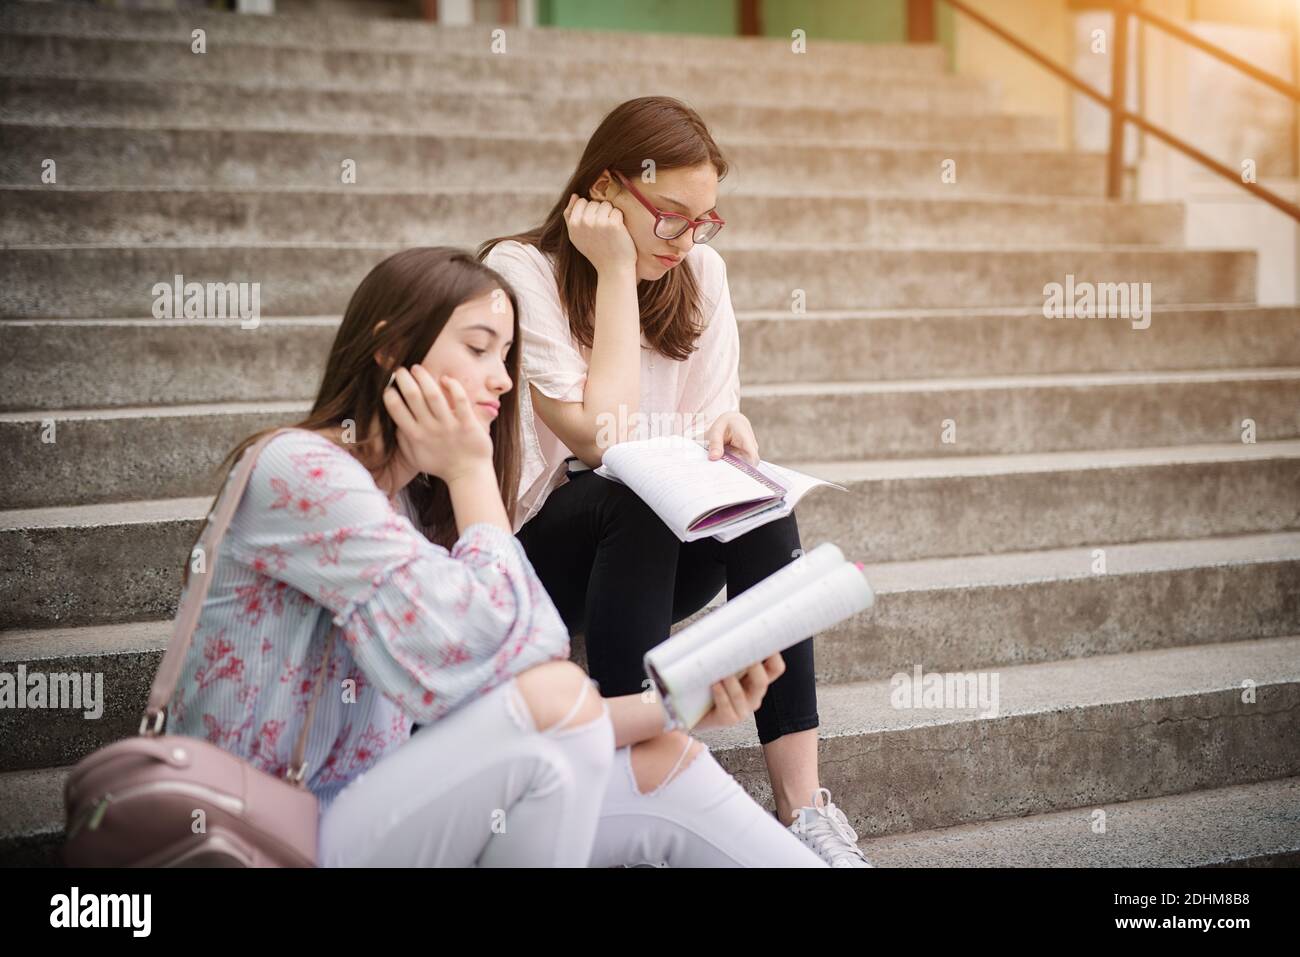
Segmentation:
{"type": "Polygon", "coordinates": [[[689,728],[712,707],[715,681],[874,602],[862,566],[826,542],[655,645],[645,657],[646,675],[668,714],[689,728]]]}

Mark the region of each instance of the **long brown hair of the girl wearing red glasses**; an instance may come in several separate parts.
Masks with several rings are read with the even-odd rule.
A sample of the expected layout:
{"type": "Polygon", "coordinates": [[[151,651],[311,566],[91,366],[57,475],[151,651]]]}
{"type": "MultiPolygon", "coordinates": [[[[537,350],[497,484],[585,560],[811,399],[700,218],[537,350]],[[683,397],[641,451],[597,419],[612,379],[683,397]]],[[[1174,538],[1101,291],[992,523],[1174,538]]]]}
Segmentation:
{"type": "MultiPolygon", "coordinates": [[[[603,170],[619,172],[634,181],[646,160],[653,160],[656,170],[711,163],[719,179],[728,169],[722,150],[696,111],[671,96],[640,96],[615,107],[595,127],[577,169],[542,225],[489,239],[478,247],[480,260],[497,243],[510,239],[552,254],[569,332],[588,348],[595,329],[595,267],[569,241],[564,209],[571,194],[590,199],[592,186],[603,170]]],[[[699,315],[699,286],[689,269],[670,269],[659,280],[642,280],[637,283],[637,300],[641,330],[651,347],[670,359],[685,359],[696,351],[705,320],[699,315]]]]}

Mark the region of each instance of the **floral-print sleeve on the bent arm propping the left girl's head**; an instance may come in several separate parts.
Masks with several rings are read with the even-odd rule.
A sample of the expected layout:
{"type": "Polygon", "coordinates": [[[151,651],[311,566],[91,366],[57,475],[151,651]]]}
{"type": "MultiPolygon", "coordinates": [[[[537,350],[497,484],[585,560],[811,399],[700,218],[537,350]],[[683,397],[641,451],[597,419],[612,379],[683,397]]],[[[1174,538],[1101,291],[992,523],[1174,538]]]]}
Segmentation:
{"type": "Polygon", "coordinates": [[[329,609],[358,666],[417,722],[569,653],[568,629],[508,532],[478,523],[450,551],[324,436],[272,439],[228,541],[237,560],[329,609]]]}

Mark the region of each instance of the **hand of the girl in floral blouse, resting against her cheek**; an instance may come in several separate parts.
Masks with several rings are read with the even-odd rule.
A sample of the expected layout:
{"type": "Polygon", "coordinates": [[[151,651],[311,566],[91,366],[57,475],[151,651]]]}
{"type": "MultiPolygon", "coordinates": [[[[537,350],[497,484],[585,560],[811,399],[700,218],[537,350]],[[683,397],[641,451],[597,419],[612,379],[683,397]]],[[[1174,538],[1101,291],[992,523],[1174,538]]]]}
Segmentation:
{"type": "Polygon", "coordinates": [[[394,385],[384,390],[384,406],[398,428],[402,458],[421,472],[450,485],[485,464],[493,467],[491,436],[456,378],[434,380],[422,365],[398,369],[394,385]]]}

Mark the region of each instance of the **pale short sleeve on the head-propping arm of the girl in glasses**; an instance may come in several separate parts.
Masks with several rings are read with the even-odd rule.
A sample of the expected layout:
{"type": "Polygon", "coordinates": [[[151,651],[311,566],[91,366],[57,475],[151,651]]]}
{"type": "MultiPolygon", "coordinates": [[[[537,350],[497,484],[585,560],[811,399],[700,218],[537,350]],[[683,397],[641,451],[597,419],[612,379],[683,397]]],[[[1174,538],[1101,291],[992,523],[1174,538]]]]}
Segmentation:
{"type": "Polygon", "coordinates": [[[494,246],[484,264],[500,273],[519,296],[524,378],[542,395],[581,402],[588,363],[573,342],[545,255],[507,241],[494,246]]]}

